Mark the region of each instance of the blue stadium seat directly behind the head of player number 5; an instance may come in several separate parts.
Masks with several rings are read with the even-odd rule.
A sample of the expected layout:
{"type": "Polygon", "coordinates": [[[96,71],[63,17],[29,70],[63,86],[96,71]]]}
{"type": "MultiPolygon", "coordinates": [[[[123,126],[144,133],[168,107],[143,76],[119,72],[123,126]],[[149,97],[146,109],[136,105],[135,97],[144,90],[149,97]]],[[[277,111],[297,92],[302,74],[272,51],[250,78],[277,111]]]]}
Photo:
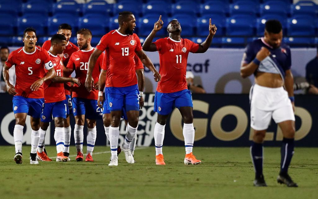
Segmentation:
{"type": "Polygon", "coordinates": [[[25,14],[18,18],[18,34],[23,35],[27,27],[33,27],[37,35],[45,35],[48,18],[41,14],[25,14]]]}

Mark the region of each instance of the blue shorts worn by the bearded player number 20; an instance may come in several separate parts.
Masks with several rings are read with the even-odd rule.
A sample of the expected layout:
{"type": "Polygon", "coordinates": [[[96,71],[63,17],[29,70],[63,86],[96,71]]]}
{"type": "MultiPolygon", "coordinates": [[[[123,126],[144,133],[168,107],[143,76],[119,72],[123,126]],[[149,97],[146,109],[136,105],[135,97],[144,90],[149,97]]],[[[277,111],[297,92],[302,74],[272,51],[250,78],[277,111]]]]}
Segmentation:
{"type": "Polygon", "coordinates": [[[97,99],[72,98],[73,114],[85,115],[86,119],[100,120],[102,119],[103,110],[98,107],[97,99]]]}

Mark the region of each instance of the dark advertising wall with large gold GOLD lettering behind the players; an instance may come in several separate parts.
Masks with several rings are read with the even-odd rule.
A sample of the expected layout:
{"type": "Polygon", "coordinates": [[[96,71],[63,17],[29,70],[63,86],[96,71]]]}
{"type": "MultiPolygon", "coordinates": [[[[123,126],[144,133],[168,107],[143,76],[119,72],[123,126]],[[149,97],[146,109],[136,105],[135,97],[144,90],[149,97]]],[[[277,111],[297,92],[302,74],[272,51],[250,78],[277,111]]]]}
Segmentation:
{"type": "MultiPolygon", "coordinates": [[[[12,111],[12,96],[0,94],[0,145],[14,144],[13,128],[15,125],[12,111]]],[[[296,146],[318,146],[318,96],[295,96],[296,146]]],[[[137,146],[153,146],[153,131],[156,124],[156,113],[153,112],[154,94],[145,95],[145,107],[140,112],[137,146]]],[[[194,127],[196,129],[195,146],[249,146],[252,137],[250,131],[249,99],[245,94],[194,94],[194,127]]],[[[71,115],[72,137],[74,117],[71,115]]],[[[175,109],[168,118],[164,145],[184,145],[182,118],[175,109]]],[[[86,143],[86,126],[84,127],[84,144],[86,143]]],[[[55,144],[53,138],[54,124],[48,129],[45,144],[55,144]]],[[[125,134],[125,123],[120,125],[121,143],[125,134]]],[[[266,134],[266,146],[280,146],[282,133],[277,125],[271,122],[266,134]]],[[[24,144],[31,143],[30,119],[27,118],[24,128],[24,144]]],[[[102,121],[97,122],[96,145],[109,144],[102,121]]]]}

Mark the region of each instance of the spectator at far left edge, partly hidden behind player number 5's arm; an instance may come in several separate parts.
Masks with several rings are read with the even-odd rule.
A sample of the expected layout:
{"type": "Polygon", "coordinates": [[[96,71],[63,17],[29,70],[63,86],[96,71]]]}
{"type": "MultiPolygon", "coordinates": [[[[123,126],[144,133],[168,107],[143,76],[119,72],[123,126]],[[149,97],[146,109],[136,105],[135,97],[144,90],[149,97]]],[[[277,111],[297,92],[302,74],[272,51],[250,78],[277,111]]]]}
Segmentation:
{"type": "MultiPolygon", "coordinates": [[[[3,79],[3,75],[2,75],[2,67],[5,63],[5,61],[7,61],[9,57],[9,48],[6,46],[3,46],[0,48],[0,93],[1,92],[7,92],[7,89],[5,87],[5,82],[3,79]]],[[[10,84],[12,84],[13,86],[16,84],[16,72],[15,72],[15,68],[14,66],[12,66],[9,69],[9,82],[10,84]]]]}

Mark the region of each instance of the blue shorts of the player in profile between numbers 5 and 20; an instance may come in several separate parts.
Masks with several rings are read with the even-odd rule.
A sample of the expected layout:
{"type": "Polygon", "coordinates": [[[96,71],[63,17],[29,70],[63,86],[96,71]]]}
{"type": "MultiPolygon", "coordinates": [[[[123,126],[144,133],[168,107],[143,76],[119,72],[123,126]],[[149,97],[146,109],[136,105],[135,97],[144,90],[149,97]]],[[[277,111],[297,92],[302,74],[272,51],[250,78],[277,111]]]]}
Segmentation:
{"type": "Polygon", "coordinates": [[[66,99],[59,102],[44,103],[43,112],[41,114],[41,122],[51,122],[52,119],[56,117],[66,119],[67,109],[68,106],[66,99]]]}

